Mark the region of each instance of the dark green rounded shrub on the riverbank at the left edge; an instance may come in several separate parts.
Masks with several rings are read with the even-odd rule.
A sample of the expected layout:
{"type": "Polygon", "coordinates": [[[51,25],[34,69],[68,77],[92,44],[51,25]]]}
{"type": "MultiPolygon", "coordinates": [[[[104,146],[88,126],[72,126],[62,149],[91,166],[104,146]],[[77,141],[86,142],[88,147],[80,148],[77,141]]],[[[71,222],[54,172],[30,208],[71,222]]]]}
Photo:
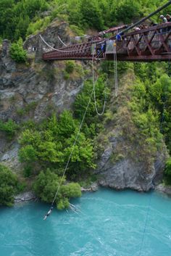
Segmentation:
{"type": "Polygon", "coordinates": [[[12,206],[18,190],[17,176],[6,166],[0,165],[0,205],[12,206]]]}

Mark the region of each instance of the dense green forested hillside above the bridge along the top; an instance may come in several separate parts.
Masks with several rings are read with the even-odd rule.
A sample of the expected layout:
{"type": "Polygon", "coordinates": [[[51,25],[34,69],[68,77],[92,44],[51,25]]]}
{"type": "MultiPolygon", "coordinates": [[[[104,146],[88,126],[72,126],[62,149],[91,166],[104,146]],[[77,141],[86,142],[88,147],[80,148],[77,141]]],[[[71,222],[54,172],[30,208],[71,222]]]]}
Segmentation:
{"type": "MultiPolygon", "coordinates": [[[[162,4],[165,2],[167,0],[162,4]]],[[[160,5],[159,0],[0,0],[0,37],[12,41],[25,39],[36,30],[46,28],[55,17],[67,20],[84,32],[88,28],[103,30],[120,22],[138,20],[160,5]]]]}

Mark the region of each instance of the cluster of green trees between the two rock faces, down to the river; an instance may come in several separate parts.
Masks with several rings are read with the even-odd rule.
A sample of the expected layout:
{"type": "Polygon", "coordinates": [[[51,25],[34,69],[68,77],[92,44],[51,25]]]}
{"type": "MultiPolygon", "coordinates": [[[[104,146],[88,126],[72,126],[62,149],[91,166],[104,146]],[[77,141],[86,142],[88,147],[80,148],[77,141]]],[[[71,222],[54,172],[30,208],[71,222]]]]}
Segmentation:
{"type": "MultiPolygon", "coordinates": [[[[96,167],[93,138],[101,130],[101,125],[93,102],[88,108],[83,129],[73,147],[92,89],[92,81],[87,80],[83,91],[75,99],[74,117],[69,111],[62,112],[58,118],[54,113],[40,124],[30,123],[30,127],[24,129],[20,138],[19,157],[24,175],[37,177],[33,189],[44,202],[52,202],[72,152],[70,165],[65,173],[66,177],[62,181],[56,200],[59,209],[69,206],[70,197],[80,197],[78,183],[66,183],[65,178],[70,181],[81,181],[83,177],[90,175],[88,170],[96,167]]],[[[102,76],[96,83],[97,106],[100,109],[104,96],[108,95],[109,89],[105,88],[104,76],[102,76]]]]}

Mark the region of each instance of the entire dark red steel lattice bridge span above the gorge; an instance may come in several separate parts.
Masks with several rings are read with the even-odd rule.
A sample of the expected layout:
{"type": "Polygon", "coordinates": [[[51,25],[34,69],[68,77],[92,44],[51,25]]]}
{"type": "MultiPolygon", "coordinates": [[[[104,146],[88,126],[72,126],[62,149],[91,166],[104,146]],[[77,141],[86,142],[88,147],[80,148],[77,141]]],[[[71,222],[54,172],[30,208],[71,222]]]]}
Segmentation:
{"type": "MultiPolygon", "coordinates": [[[[114,37],[72,44],[43,54],[51,59],[114,59],[114,37]]],[[[117,44],[119,61],[167,61],[171,59],[171,22],[126,33],[117,44]]]]}

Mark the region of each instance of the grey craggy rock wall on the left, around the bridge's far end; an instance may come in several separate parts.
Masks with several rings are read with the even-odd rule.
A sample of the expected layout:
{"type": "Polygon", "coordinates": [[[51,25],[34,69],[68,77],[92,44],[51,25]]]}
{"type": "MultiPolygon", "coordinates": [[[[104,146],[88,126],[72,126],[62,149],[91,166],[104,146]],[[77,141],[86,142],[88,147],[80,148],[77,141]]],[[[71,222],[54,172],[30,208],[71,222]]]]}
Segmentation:
{"type": "MultiPolygon", "coordinates": [[[[67,44],[70,33],[67,23],[56,20],[41,34],[51,42],[51,46],[59,47],[58,36],[67,44]]],[[[75,62],[75,67],[80,67],[79,71],[75,68],[73,74],[67,74],[69,78],[65,78],[66,62],[41,60],[41,54],[47,48],[39,35],[30,36],[24,46],[28,50],[27,64],[17,64],[11,59],[9,41],[4,40],[0,50],[0,120],[12,119],[19,124],[30,119],[38,122],[48,117],[52,110],[59,114],[70,109],[88,77],[84,70],[89,69],[75,62]],[[83,72],[79,73],[80,70],[83,72]]],[[[0,131],[0,161],[16,169],[20,165],[18,149],[18,144],[9,141],[0,131]]]]}

